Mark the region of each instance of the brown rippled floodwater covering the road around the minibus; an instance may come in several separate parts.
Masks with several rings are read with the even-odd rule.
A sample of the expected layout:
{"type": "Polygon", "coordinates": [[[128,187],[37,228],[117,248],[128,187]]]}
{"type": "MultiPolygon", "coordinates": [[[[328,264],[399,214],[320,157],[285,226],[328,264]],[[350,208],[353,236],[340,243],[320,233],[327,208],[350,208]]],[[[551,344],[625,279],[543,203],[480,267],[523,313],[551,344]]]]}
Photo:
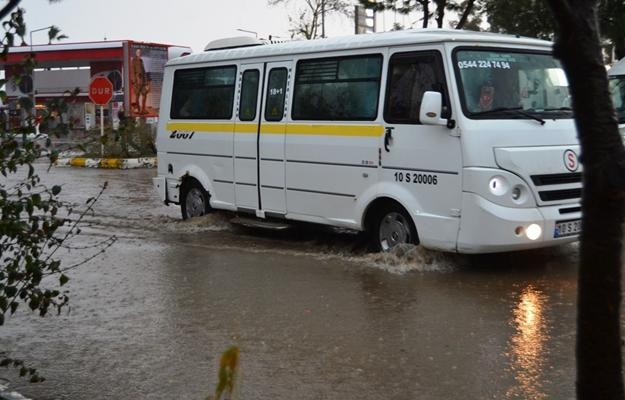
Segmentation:
{"type": "MultiPolygon", "coordinates": [[[[574,398],[577,245],[468,257],[361,235],[275,234],[227,214],[182,221],[154,170],[40,170],[80,206],[108,181],[75,247],[112,248],[69,273],[71,312],[22,308],[0,349],[47,378],[34,399],[204,399],[239,346],[240,399],[574,398]]],[[[86,250],[64,255],[66,265],[86,250]]]]}

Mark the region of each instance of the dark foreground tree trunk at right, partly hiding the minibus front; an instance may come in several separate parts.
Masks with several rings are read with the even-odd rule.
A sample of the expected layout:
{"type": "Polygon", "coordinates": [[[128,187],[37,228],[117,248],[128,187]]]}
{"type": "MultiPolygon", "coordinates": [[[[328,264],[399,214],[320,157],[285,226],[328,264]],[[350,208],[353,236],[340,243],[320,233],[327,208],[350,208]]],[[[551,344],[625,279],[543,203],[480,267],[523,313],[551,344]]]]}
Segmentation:
{"type": "Polygon", "coordinates": [[[584,165],[578,277],[577,396],[623,399],[621,251],[625,148],[601,54],[596,0],[548,0],[554,55],[570,82],[584,165]]]}

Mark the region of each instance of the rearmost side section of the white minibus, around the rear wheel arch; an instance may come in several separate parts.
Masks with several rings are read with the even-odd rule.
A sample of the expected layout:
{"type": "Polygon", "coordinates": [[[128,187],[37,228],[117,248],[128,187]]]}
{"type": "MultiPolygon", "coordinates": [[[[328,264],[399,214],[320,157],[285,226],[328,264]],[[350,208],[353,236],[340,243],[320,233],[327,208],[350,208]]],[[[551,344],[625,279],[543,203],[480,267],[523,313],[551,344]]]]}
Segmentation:
{"type": "Polygon", "coordinates": [[[159,174],[179,180],[186,175],[194,177],[209,192],[211,204],[219,208],[229,208],[235,202],[234,96],[230,104],[217,101],[224,98],[220,92],[224,85],[235,91],[234,80],[228,79],[235,74],[232,63],[166,68],[161,103],[159,174]],[[176,85],[180,85],[178,94],[176,85]],[[211,114],[213,119],[205,119],[211,114]]]}

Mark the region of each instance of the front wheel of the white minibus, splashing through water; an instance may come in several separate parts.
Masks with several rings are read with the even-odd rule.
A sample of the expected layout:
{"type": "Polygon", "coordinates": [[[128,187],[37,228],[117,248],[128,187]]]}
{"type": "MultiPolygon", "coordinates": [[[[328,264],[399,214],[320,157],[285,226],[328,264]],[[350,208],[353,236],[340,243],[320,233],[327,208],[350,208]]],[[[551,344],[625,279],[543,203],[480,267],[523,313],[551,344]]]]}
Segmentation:
{"type": "Polygon", "coordinates": [[[388,252],[399,244],[418,244],[412,219],[398,204],[387,204],[376,213],[371,230],[375,251],[388,252]]]}

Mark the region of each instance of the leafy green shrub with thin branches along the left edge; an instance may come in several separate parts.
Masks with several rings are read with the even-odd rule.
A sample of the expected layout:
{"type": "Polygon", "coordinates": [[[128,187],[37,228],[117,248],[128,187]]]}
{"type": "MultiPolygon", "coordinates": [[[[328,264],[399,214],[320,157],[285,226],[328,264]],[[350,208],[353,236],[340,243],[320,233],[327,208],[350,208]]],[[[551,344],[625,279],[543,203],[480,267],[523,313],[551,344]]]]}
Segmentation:
{"type": "MultiPolygon", "coordinates": [[[[16,39],[24,43],[24,10],[17,8],[18,4],[19,0],[13,0],[0,8],[0,18],[7,18],[3,22],[5,33],[0,41],[5,59],[16,39]]],[[[59,32],[58,28],[49,32],[50,39],[58,39],[59,32]]],[[[35,66],[33,55],[27,55],[21,65],[23,74],[32,73],[35,66]]],[[[4,83],[4,80],[0,81],[1,85],[4,83]]],[[[6,93],[0,91],[0,97],[6,100],[6,93]]],[[[69,280],[65,273],[102,253],[116,241],[115,236],[111,236],[86,246],[92,250],[90,256],[74,265],[61,264],[60,250],[71,249],[70,240],[80,233],[83,217],[91,212],[102,191],[87,200],[84,210],[76,213],[71,204],[59,199],[60,186],[48,188],[42,184],[33,165],[42,154],[42,146],[32,133],[33,104],[24,104],[28,104],[25,108],[28,111],[26,127],[19,132],[7,132],[5,124],[0,124],[0,174],[3,176],[0,180],[0,326],[21,305],[40,316],[45,316],[51,309],[61,312],[69,300],[62,288],[69,280]]],[[[0,115],[4,117],[3,113],[0,115]]],[[[48,139],[45,146],[49,144],[48,139]]],[[[56,155],[52,152],[49,157],[53,162],[56,155]]],[[[19,368],[20,375],[30,377],[31,382],[42,380],[35,369],[28,368],[21,360],[0,357],[0,366],[19,368]]]]}

